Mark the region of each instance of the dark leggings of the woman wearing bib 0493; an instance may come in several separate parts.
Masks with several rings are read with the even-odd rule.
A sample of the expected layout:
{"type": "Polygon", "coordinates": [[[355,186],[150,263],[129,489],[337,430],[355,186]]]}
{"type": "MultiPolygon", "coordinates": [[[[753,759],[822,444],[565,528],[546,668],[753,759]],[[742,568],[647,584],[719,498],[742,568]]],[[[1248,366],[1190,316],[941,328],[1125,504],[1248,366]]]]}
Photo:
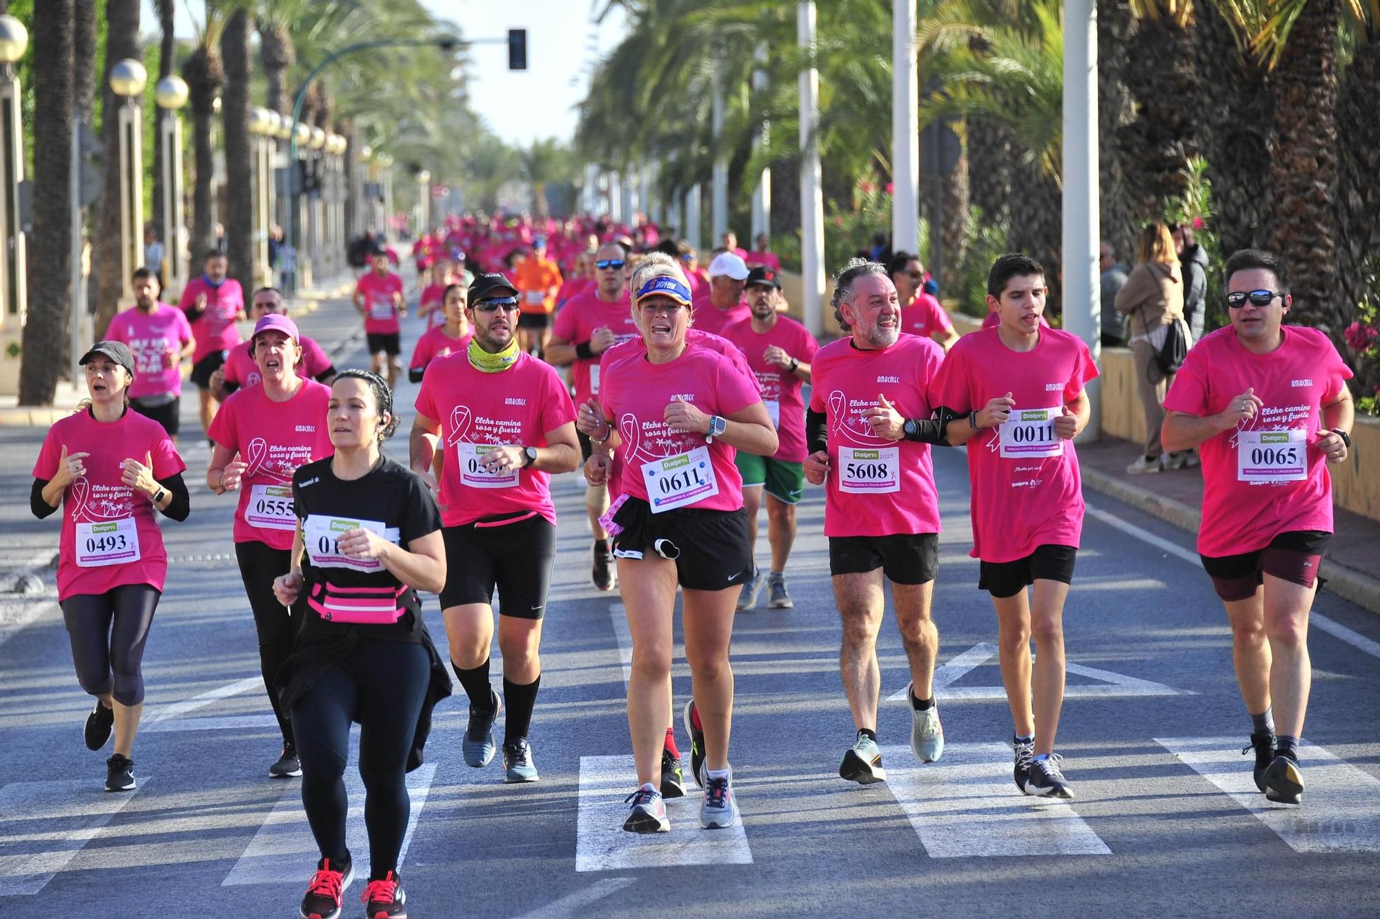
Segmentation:
{"type": "Polygon", "coordinates": [[[144,701],[139,665],[160,596],[152,584],[126,584],[59,603],[81,689],[91,695],[110,693],[120,705],[144,701]]]}

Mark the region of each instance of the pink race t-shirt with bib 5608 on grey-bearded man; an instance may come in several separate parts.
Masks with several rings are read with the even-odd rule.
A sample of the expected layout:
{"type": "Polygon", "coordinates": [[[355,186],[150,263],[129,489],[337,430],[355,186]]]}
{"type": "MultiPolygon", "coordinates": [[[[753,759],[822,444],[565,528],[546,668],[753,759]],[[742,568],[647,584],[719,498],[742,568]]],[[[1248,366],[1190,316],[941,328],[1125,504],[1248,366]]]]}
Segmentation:
{"type": "Polygon", "coordinates": [[[940,531],[930,446],[878,437],[862,413],[880,395],[903,418],[929,418],[929,386],[943,360],[933,341],[904,333],[890,348],[862,350],[840,338],[814,355],[810,410],[828,424],[824,535],[940,531]]]}

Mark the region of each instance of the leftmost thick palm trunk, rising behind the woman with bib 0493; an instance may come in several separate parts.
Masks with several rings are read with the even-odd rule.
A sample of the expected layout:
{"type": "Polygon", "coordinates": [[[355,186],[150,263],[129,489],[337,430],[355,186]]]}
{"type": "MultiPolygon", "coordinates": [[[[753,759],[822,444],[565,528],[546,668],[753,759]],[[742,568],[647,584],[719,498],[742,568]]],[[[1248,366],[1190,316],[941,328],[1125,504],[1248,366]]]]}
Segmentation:
{"type": "Polygon", "coordinates": [[[23,324],[19,404],[51,406],[68,356],[72,79],[76,7],[48,0],[33,21],[33,259],[23,324]]]}

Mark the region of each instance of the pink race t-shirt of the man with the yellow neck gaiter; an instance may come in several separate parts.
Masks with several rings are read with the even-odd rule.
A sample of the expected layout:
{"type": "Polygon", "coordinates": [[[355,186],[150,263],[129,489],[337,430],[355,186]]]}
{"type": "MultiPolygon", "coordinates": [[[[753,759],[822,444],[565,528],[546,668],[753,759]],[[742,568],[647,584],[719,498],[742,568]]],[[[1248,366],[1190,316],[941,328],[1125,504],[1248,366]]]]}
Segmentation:
{"type": "Polygon", "coordinates": [[[439,357],[422,377],[417,411],[440,422],[442,523],[458,527],[501,513],[535,511],[552,524],[551,475],[512,469],[489,475],[479,458],[495,446],[545,447],[546,432],[575,419],[570,392],[551,364],[531,355],[497,374],[469,363],[465,352],[439,357]]]}

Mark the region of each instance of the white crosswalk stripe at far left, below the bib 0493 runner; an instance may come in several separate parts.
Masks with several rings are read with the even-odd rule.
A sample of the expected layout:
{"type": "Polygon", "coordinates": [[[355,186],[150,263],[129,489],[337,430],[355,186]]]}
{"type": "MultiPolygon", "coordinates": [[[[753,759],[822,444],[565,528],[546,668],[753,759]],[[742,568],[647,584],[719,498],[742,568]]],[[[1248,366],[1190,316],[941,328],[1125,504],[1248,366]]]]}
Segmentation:
{"type": "Polygon", "coordinates": [[[149,784],[106,793],[94,781],[12,782],[0,788],[0,897],[43,890],[149,784]],[[14,814],[11,817],[11,814],[14,814]],[[52,828],[61,824],[62,829],[52,828]],[[17,851],[39,844],[44,851],[17,851]]]}

